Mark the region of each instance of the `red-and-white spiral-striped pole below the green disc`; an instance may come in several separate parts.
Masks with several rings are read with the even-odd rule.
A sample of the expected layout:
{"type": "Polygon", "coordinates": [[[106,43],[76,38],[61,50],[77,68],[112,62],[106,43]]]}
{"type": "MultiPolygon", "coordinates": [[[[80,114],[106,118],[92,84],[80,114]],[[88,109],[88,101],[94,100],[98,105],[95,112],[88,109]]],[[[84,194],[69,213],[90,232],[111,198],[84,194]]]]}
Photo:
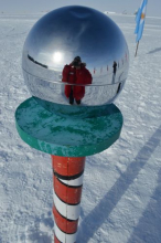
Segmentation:
{"type": "Polygon", "coordinates": [[[52,155],[54,242],[75,243],[80,210],[85,157],[52,155]]]}

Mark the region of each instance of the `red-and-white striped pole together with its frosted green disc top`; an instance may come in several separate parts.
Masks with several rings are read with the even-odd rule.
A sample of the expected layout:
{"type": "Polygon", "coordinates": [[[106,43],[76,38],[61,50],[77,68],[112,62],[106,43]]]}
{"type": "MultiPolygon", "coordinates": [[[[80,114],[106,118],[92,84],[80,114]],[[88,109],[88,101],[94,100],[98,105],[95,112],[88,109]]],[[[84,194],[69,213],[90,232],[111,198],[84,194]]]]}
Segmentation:
{"type": "MultiPolygon", "coordinates": [[[[92,114],[93,112],[92,109],[92,114]]],[[[56,154],[56,156],[52,155],[54,242],[75,243],[80,211],[85,156],[104,151],[119,138],[122,115],[111,104],[110,106],[107,105],[106,108],[99,106],[96,117],[80,118],[79,122],[73,119],[71,124],[71,116],[52,115],[39,103],[36,104],[34,98],[29,98],[18,107],[15,124],[20,137],[28,145],[50,155],[56,154]],[[35,120],[37,122],[36,127],[35,120]],[[51,130],[53,133],[49,136],[51,130]],[[64,145],[60,145],[60,136],[64,139],[64,145]],[[69,136],[72,136],[72,142],[69,142],[69,136]],[[72,157],[65,157],[66,155],[72,157]],[[76,157],[79,155],[82,157],[76,157]]]]}

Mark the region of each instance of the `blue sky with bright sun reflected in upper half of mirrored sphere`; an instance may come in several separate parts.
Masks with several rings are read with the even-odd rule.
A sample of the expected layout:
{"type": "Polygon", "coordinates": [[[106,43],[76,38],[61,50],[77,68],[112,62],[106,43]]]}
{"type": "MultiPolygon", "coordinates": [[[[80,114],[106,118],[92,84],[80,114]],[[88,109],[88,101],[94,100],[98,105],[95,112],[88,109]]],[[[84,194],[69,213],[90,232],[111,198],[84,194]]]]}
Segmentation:
{"type": "Polygon", "coordinates": [[[125,55],[127,45],[121,31],[107,15],[89,8],[66,7],[40,19],[25,47],[34,60],[61,71],[76,55],[88,68],[111,65],[125,55]]]}

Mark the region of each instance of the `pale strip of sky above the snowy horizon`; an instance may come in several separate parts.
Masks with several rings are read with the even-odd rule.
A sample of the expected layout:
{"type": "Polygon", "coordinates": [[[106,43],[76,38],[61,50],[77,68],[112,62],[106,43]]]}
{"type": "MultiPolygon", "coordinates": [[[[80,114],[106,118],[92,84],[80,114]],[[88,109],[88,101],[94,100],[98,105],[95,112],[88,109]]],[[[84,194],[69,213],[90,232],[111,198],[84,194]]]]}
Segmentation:
{"type": "MultiPolygon", "coordinates": [[[[79,4],[92,7],[103,12],[122,12],[126,10],[128,13],[133,13],[140,2],[141,0],[0,0],[0,12],[33,13],[51,11],[63,6],[79,4]]],[[[147,15],[161,17],[161,0],[148,1],[147,15]]]]}

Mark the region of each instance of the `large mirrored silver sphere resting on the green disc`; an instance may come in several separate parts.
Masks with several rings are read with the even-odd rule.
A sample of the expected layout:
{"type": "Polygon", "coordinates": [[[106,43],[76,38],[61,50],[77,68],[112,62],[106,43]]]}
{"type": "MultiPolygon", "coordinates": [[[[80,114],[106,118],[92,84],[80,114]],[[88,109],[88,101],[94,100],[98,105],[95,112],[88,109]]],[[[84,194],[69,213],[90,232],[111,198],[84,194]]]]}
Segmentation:
{"type": "Polygon", "coordinates": [[[103,106],[112,103],[125,85],[129,51],[110,18],[92,8],[69,6],[33,25],[24,43],[22,68],[30,93],[41,105],[103,106]]]}

